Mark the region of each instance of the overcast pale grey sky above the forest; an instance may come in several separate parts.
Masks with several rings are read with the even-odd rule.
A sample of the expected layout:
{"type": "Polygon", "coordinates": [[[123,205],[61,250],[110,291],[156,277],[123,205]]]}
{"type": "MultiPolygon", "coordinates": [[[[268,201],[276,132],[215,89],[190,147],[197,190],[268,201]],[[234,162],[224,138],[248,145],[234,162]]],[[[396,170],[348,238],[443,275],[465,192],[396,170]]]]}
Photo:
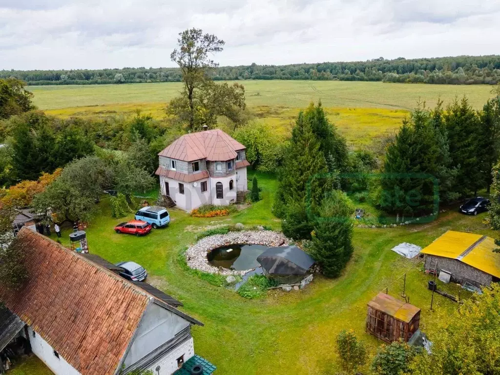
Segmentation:
{"type": "Polygon", "coordinates": [[[174,66],[177,34],[220,65],[500,53],[500,0],[0,0],[0,69],[174,66]]]}

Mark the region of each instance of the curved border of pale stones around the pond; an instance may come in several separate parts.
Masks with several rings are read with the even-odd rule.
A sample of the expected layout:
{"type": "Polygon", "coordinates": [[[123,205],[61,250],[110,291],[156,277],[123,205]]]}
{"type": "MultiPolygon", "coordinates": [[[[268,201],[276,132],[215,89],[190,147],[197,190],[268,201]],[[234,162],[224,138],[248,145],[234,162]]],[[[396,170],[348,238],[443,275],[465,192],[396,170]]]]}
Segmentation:
{"type": "Polygon", "coordinates": [[[218,273],[224,276],[228,275],[244,275],[251,271],[233,271],[230,269],[219,268],[208,263],[206,255],[214,248],[226,246],[230,244],[258,244],[269,247],[286,246],[291,241],[281,232],[272,230],[249,230],[249,231],[232,231],[226,234],[214,234],[201,238],[195,244],[189,246],[186,250],[186,262],[192,269],[198,269],[208,273],[218,273]]]}

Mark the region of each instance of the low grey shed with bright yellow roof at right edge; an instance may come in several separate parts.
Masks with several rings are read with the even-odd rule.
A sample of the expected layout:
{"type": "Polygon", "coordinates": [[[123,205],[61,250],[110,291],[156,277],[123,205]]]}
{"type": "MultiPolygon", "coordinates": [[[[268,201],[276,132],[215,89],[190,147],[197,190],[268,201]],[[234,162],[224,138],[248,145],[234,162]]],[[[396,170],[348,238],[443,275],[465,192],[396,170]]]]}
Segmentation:
{"type": "Polygon", "coordinates": [[[448,230],[422,249],[425,268],[444,270],[454,282],[475,286],[500,281],[500,253],[494,239],[481,234],[448,230]]]}

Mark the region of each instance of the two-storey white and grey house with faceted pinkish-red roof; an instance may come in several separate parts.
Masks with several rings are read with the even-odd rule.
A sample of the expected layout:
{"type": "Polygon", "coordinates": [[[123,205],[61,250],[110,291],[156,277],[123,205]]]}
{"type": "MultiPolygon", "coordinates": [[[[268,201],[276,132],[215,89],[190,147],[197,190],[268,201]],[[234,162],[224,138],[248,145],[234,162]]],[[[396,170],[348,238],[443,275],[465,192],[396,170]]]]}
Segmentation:
{"type": "Polygon", "coordinates": [[[219,129],[184,134],[158,153],[161,193],[187,211],[247,190],[245,146],[219,129]]]}

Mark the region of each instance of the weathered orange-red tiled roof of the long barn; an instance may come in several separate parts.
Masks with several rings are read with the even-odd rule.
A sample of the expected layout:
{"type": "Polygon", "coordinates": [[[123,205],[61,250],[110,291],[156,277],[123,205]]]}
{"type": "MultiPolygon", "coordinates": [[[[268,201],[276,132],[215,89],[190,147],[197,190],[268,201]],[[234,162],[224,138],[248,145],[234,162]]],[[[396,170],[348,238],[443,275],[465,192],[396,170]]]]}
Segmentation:
{"type": "Polygon", "coordinates": [[[0,285],[0,300],[82,375],[113,374],[152,296],[26,227],[12,246],[28,279],[17,291],[0,285]]]}

